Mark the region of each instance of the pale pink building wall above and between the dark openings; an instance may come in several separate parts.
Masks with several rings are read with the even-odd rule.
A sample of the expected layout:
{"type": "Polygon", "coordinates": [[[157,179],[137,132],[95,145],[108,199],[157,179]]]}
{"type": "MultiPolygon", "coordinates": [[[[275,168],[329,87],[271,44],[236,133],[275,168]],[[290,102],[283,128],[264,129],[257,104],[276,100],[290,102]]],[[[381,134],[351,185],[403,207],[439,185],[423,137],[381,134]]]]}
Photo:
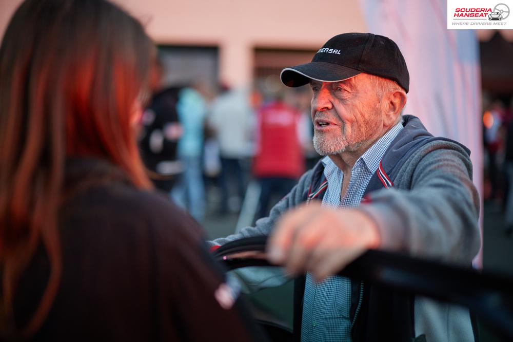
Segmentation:
{"type": "MultiPolygon", "coordinates": [[[[319,49],[342,32],[365,31],[351,0],[114,0],[146,26],[157,44],[219,47],[219,78],[252,79],[255,47],[319,49]]],[[[0,0],[0,34],[21,0],[0,0]]]]}

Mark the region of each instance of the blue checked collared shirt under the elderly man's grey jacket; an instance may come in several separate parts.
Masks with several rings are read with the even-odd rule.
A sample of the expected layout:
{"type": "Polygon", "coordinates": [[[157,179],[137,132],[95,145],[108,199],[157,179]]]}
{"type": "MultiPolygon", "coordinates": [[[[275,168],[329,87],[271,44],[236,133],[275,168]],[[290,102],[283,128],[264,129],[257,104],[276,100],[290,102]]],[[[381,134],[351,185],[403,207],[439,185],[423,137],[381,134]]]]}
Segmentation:
{"type": "MultiPolygon", "coordinates": [[[[324,176],[328,181],[328,188],[324,194],[322,205],[331,207],[358,206],[365,188],[378,169],[386,149],[401,129],[403,129],[402,123],[393,126],[354,163],[351,169],[349,186],[342,200],[340,199],[340,192],[344,174],[329,157],[324,157],[322,163],[324,164],[324,176]]],[[[350,279],[332,276],[321,283],[315,283],[311,274],[307,273],[303,298],[301,340],[350,342],[352,325],[349,317],[350,307],[350,279]]],[[[355,318],[357,314],[354,315],[355,318]]]]}

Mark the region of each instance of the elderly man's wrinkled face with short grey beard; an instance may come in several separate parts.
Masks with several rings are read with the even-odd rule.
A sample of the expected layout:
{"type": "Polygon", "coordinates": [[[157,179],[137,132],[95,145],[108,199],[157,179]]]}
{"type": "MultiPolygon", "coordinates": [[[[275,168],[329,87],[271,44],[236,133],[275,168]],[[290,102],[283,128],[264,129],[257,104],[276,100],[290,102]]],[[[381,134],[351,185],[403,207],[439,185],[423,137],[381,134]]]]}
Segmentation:
{"type": "Polygon", "coordinates": [[[380,137],[383,107],[376,86],[362,73],[341,82],[310,82],[313,146],[320,155],[367,149],[380,137]]]}

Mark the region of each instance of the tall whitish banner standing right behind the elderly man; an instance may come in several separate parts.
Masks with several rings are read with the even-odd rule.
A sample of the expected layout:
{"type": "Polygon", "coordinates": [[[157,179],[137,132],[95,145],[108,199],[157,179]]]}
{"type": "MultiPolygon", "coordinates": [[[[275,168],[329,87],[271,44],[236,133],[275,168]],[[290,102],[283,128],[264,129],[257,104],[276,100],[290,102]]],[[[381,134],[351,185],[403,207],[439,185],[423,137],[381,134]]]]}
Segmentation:
{"type": "MultiPolygon", "coordinates": [[[[475,31],[447,30],[444,0],[360,4],[368,31],[389,37],[404,55],[410,73],[404,113],[419,117],[431,134],[471,150],[473,181],[482,200],[481,71],[475,31]]],[[[476,264],[481,265],[481,252],[476,264]]]]}

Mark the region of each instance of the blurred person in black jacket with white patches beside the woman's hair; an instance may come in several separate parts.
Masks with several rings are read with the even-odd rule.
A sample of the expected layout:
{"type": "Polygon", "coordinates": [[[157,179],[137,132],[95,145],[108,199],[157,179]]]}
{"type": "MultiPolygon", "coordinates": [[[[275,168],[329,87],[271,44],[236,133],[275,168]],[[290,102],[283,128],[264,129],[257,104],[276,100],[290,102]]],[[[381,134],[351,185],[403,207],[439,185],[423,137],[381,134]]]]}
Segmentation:
{"type": "Polygon", "coordinates": [[[141,118],[139,147],[155,187],[170,193],[183,165],[177,158],[176,146],[182,136],[176,104],[181,87],[164,87],[161,61],[154,59],[150,71],[152,98],[141,118]]]}

